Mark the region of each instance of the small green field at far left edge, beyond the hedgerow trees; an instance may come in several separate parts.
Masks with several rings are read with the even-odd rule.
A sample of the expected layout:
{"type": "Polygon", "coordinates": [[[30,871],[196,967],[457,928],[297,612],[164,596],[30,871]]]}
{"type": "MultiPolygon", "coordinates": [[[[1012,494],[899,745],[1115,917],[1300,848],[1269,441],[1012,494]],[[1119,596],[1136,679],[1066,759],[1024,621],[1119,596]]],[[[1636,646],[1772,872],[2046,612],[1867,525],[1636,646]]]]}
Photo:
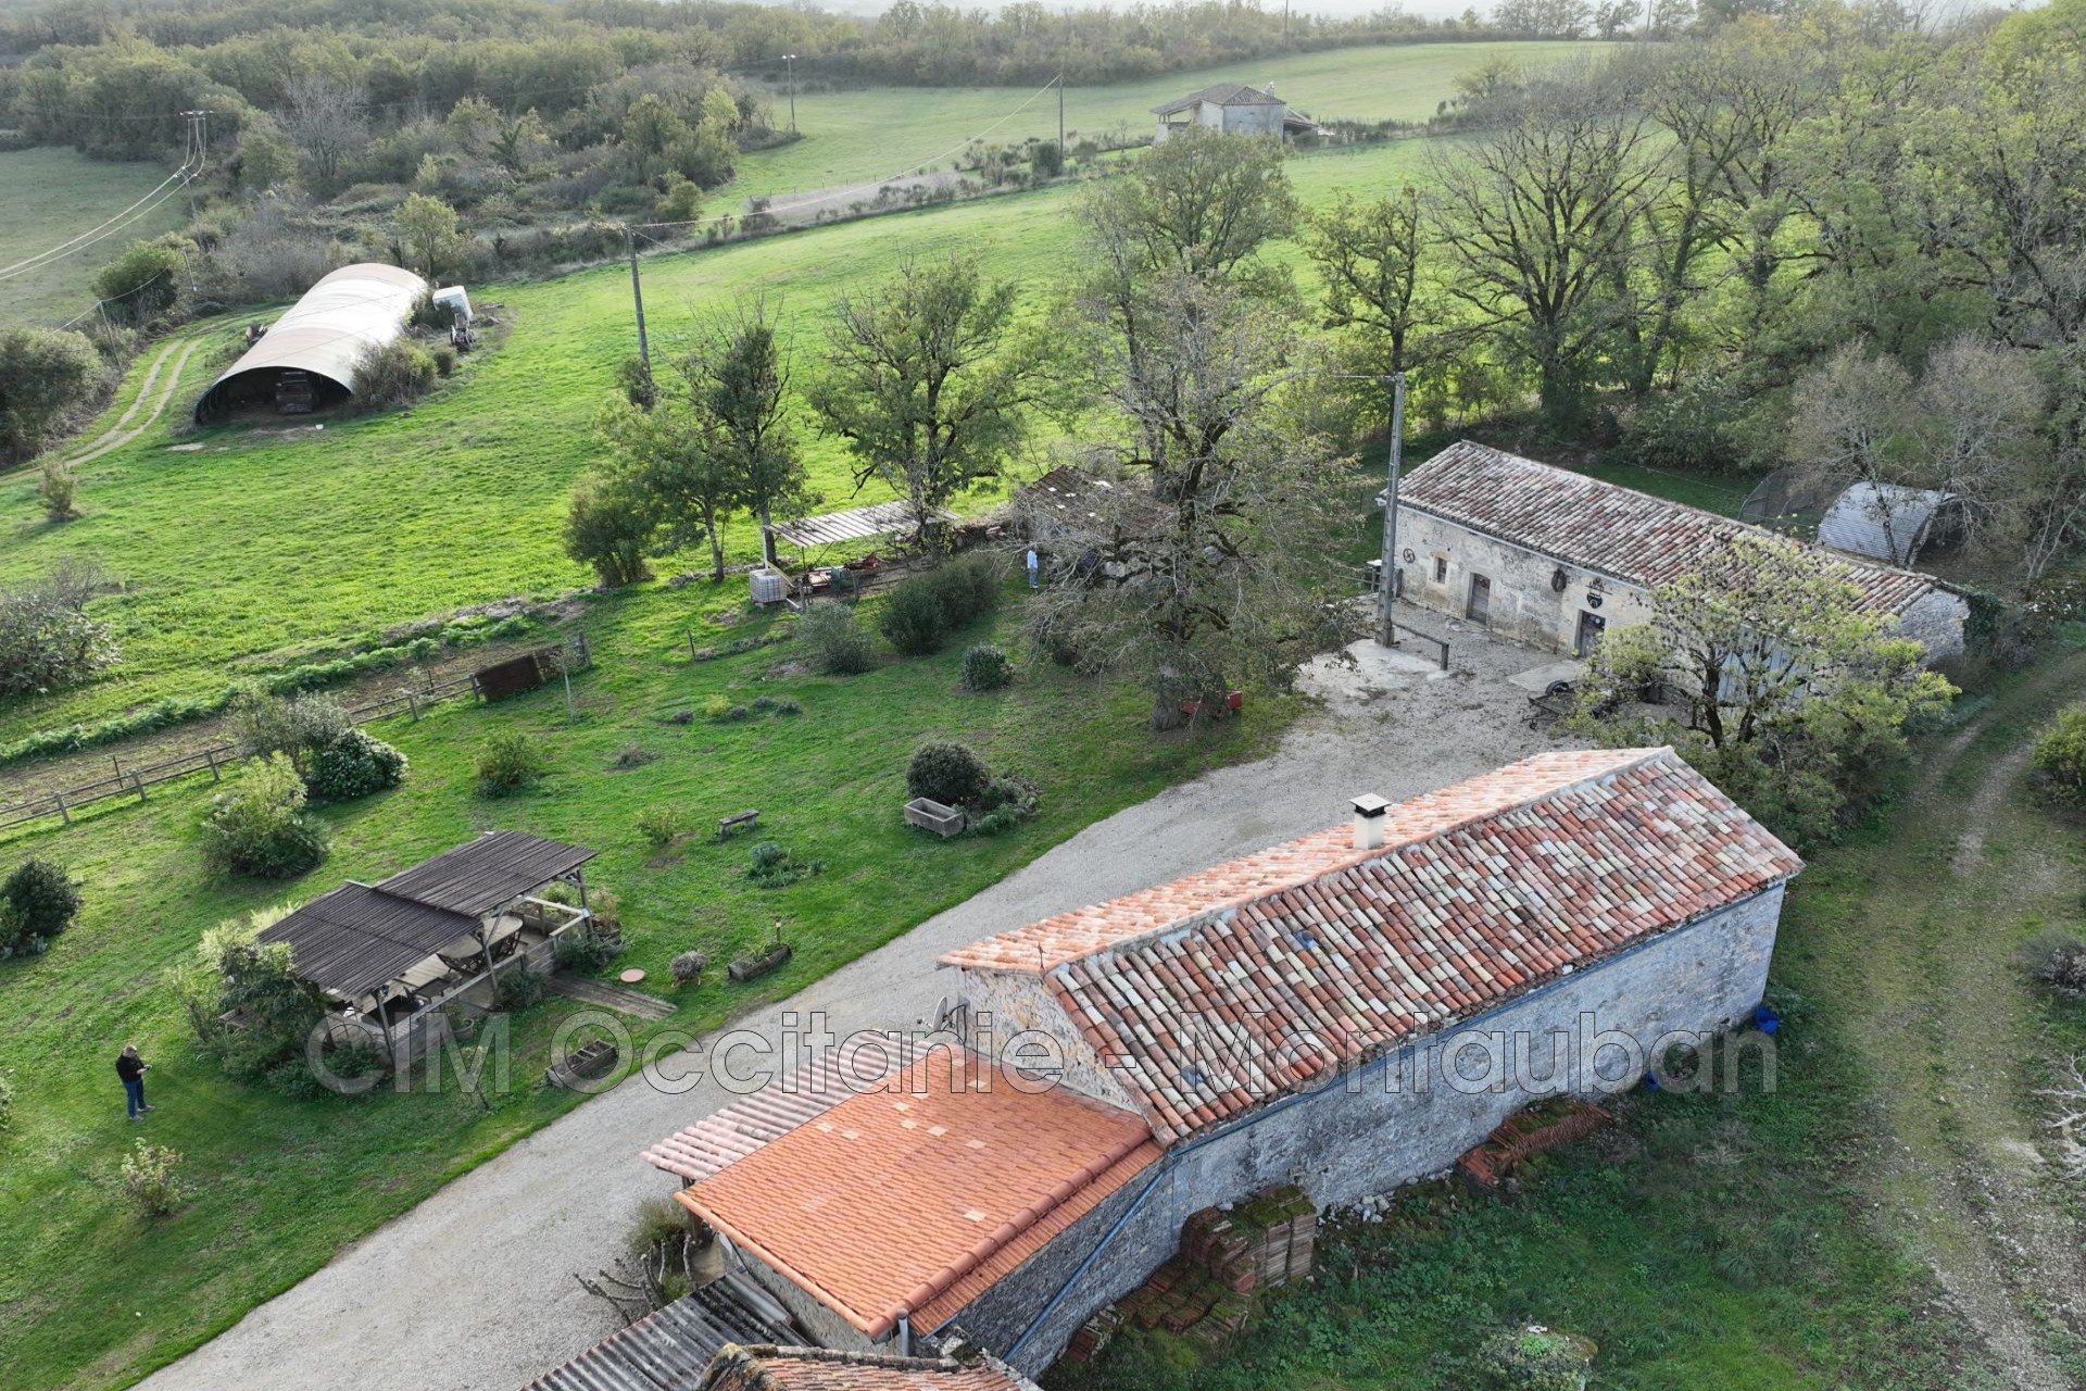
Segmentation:
{"type": "MultiPolygon", "coordinates": [[[[0,265],[46,252],[115,217],[165,179],[159,165],[113,165],[71,150],[0,154],[0,265]]],[[[94,309],[88,282],[134,238],[173,231],[188,221],[188,200],[169,198],[123,231],[0,282],[0,323],[71,319],[94,309]]]]}

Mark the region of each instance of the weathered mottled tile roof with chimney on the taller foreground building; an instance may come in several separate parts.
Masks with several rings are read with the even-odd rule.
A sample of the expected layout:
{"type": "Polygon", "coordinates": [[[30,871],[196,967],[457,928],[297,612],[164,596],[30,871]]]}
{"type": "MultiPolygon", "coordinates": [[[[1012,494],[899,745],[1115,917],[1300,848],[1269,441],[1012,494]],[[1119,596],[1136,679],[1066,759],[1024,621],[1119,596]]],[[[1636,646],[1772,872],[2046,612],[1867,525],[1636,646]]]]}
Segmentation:
{"type": "Polygon", "coordinates": [[[1802,868],[1671,749],[1546,753],[1385,820],[1375,851],[1320,832],[943,959],[1037,972],[1041,955],[1172,1143],[1802,868]],[[1210,1066],[1185,1036],[1204,1022],[1247,1066],[1210,1066]]]}

